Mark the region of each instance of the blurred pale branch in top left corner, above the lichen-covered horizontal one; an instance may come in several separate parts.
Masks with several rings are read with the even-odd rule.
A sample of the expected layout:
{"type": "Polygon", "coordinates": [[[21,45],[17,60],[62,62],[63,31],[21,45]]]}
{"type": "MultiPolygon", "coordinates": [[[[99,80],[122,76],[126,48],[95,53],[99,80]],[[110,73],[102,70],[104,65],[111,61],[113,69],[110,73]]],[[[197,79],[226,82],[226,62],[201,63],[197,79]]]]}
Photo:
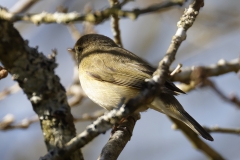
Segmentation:
{"type": "Polygon", "coordinates": [[[34,4],[39,2],[39,0],[20,0],[10,9],[14,14],[24,13],[34,4]]]}

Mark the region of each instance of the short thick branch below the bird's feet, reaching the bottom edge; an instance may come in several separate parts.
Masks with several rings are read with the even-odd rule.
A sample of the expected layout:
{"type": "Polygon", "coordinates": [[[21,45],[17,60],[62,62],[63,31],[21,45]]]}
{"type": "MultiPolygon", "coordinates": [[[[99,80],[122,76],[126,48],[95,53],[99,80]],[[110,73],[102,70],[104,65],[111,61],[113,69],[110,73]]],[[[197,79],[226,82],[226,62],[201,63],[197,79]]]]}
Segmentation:
{"type": "Polygon", "coordinates": [[[122,121],[114,131],[113,135],[103,147],[98,160],[115,160],[126,146],[127,142],[132,137],[133,128],[137,120],[140,119],[140,114],[128,116],[122,121]]]}

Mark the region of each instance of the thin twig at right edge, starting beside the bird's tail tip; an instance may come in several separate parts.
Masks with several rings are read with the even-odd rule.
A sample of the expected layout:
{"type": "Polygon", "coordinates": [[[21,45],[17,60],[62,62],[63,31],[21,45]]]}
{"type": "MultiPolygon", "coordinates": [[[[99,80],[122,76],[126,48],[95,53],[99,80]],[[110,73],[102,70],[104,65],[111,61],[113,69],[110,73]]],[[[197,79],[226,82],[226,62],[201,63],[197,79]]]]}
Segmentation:
{"type": "Polygon", "coordinates": [[[218,126],[215,127],[204,127],[208,132],[213,133],[228,133],[228,134],[237,134],[240,135],[240,128],[221,128],[218,126]]]}

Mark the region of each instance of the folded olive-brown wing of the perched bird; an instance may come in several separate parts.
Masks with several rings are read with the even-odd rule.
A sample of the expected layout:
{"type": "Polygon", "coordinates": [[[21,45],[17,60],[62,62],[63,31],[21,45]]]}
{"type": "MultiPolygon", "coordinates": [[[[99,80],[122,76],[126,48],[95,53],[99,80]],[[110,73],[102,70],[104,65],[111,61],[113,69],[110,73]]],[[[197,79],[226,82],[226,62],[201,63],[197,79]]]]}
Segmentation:
{"type": "Polygon", "coordinates": [[[150,78],[154,71],[147,62],[118,47],[92,56],[91,62],[91,69],[86,70],[91,77],[136,89],[141,89],[145,79],[150,78]],[[107,54],[111,56],[106,56],[107,54]]]}

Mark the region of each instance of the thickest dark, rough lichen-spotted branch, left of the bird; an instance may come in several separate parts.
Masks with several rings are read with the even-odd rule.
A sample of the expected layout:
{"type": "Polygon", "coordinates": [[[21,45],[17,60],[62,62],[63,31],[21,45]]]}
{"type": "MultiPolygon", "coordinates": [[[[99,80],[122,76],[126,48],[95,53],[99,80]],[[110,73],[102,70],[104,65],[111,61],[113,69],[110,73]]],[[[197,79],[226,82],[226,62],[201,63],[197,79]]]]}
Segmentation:
{"type": "MultiPolygon", "coordinates": [[[[13,24],[0,21],[0,61],[19,83],[38,114],[48,150],[76,135],[65,89],[54,74],[55,59],[30,48],[13,24]]],[[[79,151],[67,159],[83,159],[79,151]]]]}

